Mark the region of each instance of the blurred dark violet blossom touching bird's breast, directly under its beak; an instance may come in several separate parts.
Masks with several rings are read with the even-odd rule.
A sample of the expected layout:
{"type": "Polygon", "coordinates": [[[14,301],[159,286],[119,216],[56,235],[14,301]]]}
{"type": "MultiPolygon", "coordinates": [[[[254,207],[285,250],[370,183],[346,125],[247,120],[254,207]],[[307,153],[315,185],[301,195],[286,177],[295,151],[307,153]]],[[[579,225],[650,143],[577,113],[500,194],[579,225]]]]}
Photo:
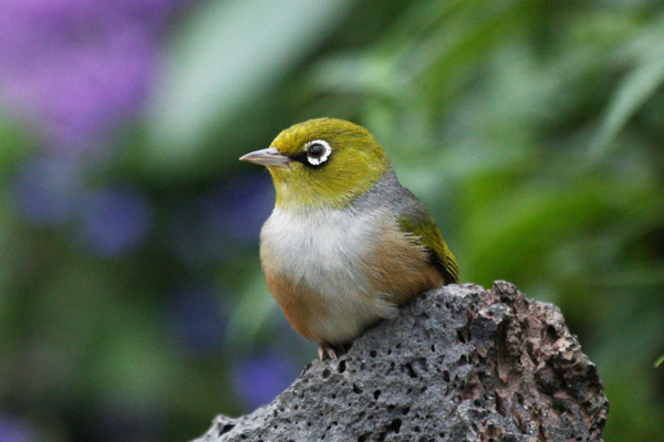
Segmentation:
{"type": "Polygon", "coordinates": [[[189,264],[232,256],[242,244],[258,242],[273,206],[274,190],[264,175],[236,177],[212,188],[175,213],[176,252],[189,264]]]}

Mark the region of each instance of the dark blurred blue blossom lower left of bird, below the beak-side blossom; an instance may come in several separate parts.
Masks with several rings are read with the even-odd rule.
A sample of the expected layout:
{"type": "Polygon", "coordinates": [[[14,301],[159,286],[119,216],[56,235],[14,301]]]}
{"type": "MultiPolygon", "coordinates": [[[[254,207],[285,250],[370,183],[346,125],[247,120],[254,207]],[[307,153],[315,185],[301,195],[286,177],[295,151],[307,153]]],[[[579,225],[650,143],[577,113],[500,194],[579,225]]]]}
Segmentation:
{"type": "Polygon", "coordinates": [[[188,286],[175,292],[168,306],[169,328],[187,349],[206,352],[219,348],[226,318],[219,294],[205,286],[188,286]]]}

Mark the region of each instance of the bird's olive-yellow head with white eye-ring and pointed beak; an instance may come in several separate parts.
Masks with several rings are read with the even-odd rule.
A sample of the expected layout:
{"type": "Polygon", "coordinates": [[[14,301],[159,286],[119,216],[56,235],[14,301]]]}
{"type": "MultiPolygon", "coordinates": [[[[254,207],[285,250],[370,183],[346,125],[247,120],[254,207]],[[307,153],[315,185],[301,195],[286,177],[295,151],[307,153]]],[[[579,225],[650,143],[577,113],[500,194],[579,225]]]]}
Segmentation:
{"type": "Polygon", "coordinates": [[[342,208],[387,170],[383,148],[362,126],[318,118],[284,129],[270,148],[241,160],[268,167],[278,207],[342,208]]]}

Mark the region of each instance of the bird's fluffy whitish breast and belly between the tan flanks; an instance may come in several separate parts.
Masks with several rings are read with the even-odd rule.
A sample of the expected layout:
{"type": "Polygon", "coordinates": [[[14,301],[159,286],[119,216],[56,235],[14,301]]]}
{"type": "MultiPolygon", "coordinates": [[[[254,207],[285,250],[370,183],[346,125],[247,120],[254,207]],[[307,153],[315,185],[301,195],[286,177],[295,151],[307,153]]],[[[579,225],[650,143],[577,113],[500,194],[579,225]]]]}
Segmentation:
{"type": "Polygon", "coordinates": [[[330,343],[350,340],[370,323],[396,313],[364,274],[372,244],[381,236],[381,220],[377,211],[276,208],[262,228],[261,246],[270,248],[273,271],[329,301],[330,314],[315,327],[330,343]]]}

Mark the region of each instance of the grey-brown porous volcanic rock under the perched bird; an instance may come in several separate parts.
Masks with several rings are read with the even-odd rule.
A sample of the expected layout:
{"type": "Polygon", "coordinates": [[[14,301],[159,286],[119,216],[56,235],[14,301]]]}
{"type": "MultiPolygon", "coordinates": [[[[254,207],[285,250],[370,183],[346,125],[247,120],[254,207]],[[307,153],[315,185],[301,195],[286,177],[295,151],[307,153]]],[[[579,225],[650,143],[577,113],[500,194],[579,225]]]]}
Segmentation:
{"type": "Polygon", "coordinates": [[[601,441],[609,402],[560,311],[512,284],[448,285],[313,361],[212,441],[601,441]]]}

